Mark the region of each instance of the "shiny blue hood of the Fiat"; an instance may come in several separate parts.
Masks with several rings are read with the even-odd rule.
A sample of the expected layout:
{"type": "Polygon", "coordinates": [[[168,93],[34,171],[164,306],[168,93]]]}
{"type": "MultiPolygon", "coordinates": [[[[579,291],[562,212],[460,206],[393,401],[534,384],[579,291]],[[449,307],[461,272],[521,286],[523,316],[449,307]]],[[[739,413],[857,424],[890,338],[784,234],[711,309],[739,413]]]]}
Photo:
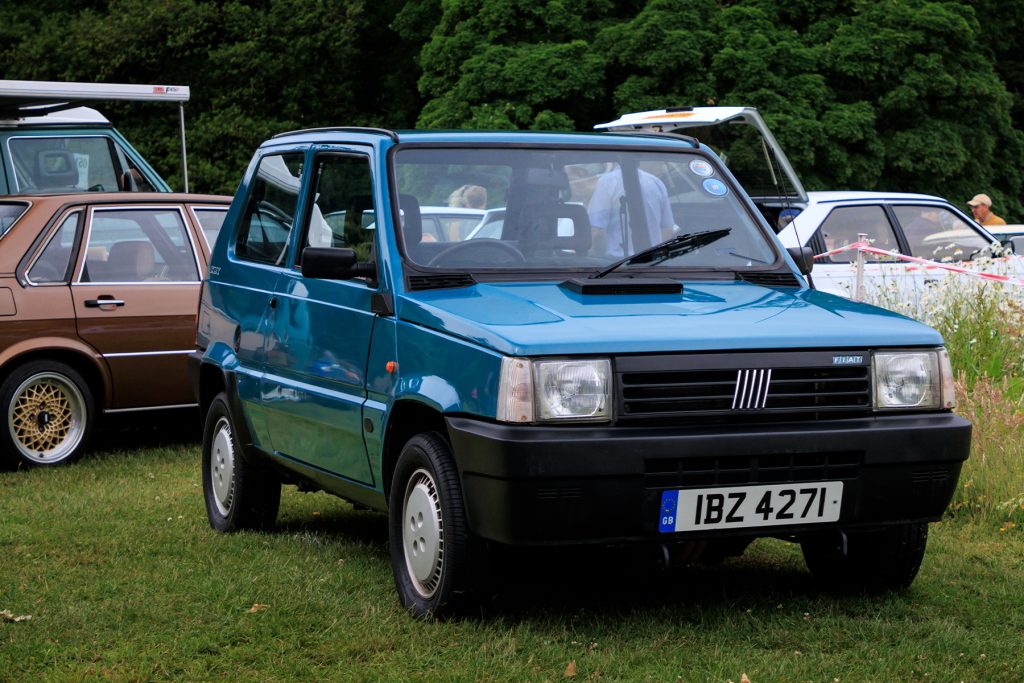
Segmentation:
{"type": "Polygon", "coordinates": [[[402,321],[508,355],[937,346],[931,328],[809,289],[688,282],[682,294],[583,295],[557,283],[408,293],[402,321]]]}

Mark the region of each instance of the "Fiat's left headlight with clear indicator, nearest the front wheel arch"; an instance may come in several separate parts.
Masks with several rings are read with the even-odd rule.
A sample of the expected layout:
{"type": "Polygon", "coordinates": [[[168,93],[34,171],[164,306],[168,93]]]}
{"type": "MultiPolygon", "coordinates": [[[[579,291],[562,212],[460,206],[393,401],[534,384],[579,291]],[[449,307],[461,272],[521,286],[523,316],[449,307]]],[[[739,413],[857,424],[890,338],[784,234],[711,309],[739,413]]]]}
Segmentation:
{"type": "Polygon", "coordinates": [[[498,419],[503,422],[606,421],[611,417],[611,364],[502,358],[498,419]]]}

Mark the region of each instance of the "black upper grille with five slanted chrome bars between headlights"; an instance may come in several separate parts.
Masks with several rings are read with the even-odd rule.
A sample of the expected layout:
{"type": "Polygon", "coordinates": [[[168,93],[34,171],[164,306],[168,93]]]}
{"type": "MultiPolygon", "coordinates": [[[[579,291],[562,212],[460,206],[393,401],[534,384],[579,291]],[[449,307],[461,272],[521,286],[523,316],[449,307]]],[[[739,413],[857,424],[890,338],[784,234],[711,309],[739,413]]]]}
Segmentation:
{"type": "Polygon", "coordinates": [[[624,424],[826,420],[871,409],[866,351],[620,356],[615,371],[624,424]]]}

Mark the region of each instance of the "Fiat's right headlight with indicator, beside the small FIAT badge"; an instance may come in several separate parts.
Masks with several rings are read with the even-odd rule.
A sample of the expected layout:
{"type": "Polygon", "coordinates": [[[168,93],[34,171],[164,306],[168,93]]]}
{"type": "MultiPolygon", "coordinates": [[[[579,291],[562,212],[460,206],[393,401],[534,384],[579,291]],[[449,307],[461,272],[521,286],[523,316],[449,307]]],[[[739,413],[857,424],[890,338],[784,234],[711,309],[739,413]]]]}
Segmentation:
{"type": "Polygon", "coordinates": [[[876,410],[955,407],[952,369],[944,348],[874,354],[876,410]]]}

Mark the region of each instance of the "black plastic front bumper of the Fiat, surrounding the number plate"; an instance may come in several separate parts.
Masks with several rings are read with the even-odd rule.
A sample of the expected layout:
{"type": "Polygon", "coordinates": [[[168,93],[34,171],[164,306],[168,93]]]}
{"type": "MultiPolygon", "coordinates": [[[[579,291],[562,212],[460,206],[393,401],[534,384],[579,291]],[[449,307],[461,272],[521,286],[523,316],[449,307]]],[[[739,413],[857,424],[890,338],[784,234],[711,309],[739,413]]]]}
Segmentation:
{"type": "Polygon", "coordinates": [[[952,414],[708,429],[447,419],[470,526],[512,545],[778,536],[938,519],[971,446],[952,414]],[[770,465],[770,467],[769,467],[770,465]],[[839,522],[662,533],[662,493],[844,481],[839,522]]]}

